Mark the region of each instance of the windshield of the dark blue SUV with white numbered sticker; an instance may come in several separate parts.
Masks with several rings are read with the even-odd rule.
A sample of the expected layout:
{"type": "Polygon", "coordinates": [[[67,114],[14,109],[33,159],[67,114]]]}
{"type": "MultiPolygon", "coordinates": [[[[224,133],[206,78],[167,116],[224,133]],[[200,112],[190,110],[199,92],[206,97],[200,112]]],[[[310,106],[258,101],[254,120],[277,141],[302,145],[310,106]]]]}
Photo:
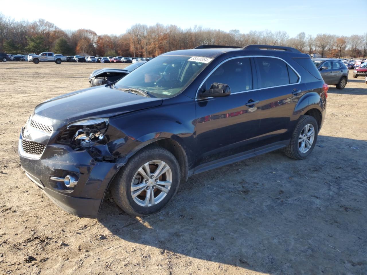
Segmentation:
{"type": "Polygon", "coordinates": [[[168,98],[187,87],[211,58],[161,55],[121,78],[116,88],[135,88],[149,95],[168,98]]]}

